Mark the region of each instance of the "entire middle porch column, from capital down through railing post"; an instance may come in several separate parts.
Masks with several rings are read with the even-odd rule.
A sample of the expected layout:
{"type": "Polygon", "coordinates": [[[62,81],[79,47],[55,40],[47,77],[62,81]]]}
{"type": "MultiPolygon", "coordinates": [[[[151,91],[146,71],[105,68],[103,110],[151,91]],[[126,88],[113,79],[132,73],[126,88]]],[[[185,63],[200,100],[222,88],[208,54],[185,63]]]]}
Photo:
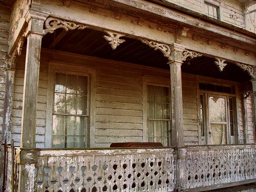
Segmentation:
{"type": "Polygon", "coordinates": [[[175,168],[175,191],[182,191],[185,188],[185,165],[187,151],[184,148],[183,139],[183,110],[182,110],[182,82],[181,82],[181,64],[182,52],[185,49],[180,44],[170,45],[172,61],[170,65],[170,99],[171,110],[170,117],[172,121],[172,146],[176,149],[176,168],[175,168]]]}

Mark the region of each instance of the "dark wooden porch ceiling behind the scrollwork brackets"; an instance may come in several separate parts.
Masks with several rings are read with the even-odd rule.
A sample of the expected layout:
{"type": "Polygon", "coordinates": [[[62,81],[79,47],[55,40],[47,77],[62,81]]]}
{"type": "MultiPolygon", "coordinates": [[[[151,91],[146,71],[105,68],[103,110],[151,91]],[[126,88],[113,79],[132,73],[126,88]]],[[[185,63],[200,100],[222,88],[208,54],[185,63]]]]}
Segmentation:
{"type": "MultiPolygon", "coordinates": [[[[143,44],[137,39],[121,37],[126,42],[112,50],[106,39],[106,33],[92,29],[73,30],[63,32],[56,30],[54,34],[47,34],[43,38],[42,47],[47,49],[72,52],[75,54],[94,56],[99,58],[111,59],[146,65],[155,68],[169,69],[168,60],[160,51],[154,51],[148,45],[143,44]],[[60,38],[61,37],[61,38],[60,38]]],[[[236,82],[250,80],[247,72],[241,70],[235,64],[227,64],[222,72],[214,64],[213,58],[205,56],[194,58],[188,65],[187,61],[182,64],[182,72],[207,77],[220,78],[236,82]]]]}

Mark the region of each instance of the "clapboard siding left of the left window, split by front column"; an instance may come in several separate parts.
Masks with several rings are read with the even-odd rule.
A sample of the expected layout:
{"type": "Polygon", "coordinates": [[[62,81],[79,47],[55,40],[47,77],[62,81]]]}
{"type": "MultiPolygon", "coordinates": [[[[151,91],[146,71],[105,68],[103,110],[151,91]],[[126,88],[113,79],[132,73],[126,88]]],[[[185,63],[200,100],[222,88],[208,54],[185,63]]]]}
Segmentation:
{"type": "MultiPolygon", "coordinates": [[[[14,85],[14,102],[12,105],[12,140],[15,145],[19,145],[21,138],[21,117],[22,117],[22,99],[24,84],[24,54],[17,59],[14,85]]],[[[36,147],[43,148],[45,142],[45,118],[47,102],[47,69],[48,63],[41,61],[40,77],[37,94],[37,112],[36,112],[36,147]]]]}

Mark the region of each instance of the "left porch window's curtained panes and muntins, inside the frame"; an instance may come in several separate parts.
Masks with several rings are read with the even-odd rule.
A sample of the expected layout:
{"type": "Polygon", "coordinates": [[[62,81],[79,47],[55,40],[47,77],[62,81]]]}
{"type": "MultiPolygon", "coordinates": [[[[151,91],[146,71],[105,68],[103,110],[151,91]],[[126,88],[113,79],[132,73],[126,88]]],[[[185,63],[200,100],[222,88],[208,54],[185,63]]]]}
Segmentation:
{"type": "Polygon", "coordinates": [[[52,147],[87,147],[88,77],[56,74],[52,114],[52,147]]]}

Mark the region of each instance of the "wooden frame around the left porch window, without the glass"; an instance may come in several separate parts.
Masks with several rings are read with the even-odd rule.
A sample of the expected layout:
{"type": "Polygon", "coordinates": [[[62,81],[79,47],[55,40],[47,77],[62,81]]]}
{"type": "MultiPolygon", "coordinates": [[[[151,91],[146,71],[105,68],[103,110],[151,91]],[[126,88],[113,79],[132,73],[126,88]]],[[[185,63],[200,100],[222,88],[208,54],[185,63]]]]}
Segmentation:
{"type": "MultiPolygon", "coordinates": [[[[45,118],[45,148],[52,148],[52,116],[54,114],[54,94],[56,74],[70,74],[88,77],[88,128],[86,147],[95,147],[95,74],[96,70],[82,65],[49,62],[47,84],[47,110],[45,118]]],[[[63,148],[66,149],[66,148],[63,148]]]]}

